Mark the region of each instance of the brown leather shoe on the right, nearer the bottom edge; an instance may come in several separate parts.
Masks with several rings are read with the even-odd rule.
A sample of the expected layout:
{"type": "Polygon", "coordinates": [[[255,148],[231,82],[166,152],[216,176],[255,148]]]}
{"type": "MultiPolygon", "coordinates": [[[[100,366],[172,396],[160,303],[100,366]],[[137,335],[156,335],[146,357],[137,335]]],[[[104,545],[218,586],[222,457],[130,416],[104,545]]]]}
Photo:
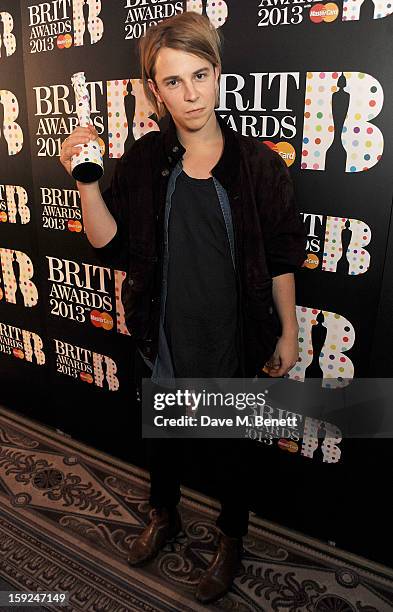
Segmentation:
{"type": "Polygon", "coordinates": [[[242,568],[242,548],[242,538],[230,538],[221,533],[216,556],[199,581],[195,593],[198,601],[210,603],[229,591],[242,568]]]}

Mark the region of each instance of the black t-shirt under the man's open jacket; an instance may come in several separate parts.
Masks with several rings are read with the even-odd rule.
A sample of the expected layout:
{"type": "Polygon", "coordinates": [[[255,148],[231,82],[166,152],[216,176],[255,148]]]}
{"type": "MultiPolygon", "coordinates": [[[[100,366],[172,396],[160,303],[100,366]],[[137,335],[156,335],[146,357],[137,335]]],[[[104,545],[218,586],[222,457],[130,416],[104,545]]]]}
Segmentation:
{"type": "Polygon", "coordinates": [[[172,196],[164,329],[176,377],[230,377],[239,361],[237,288],[213,178],[184,171],[172,196]]]}

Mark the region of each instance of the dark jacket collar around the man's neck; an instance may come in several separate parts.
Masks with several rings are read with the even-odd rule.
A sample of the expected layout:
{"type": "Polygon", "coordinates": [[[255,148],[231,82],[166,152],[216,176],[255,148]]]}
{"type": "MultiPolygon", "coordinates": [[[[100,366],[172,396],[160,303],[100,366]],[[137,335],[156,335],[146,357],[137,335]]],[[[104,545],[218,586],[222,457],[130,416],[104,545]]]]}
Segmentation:
{"type": "MultiPolygon", "coordinates": [[[[212,169],[212,175],[221,183],[224,189],[234,187],[239,176],[240,147],[236,132],[220,117],[215,110],[217,121],[224,136],[224,150],[217,164],[212,169]]],[[[172,169],[186,151],[177,137],[176,125],[171,115],[167,128],[164,130],[165,159],[172,169]]]]}

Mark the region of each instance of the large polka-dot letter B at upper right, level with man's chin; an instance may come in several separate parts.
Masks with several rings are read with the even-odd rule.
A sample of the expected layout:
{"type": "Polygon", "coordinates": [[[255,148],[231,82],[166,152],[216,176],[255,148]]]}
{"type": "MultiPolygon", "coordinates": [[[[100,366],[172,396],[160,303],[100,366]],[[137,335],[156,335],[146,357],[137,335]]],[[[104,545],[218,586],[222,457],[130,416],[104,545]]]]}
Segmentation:
{"type": "MultiPolygon", "coordinates": [[[[338,91],[340,72],[307,73],[304,112],[302,169],[324,170],[326,152],[334,139],[332,94],[338,91]]],[[[346,172],[372,168],[381,158],[383,136],[369,122],[381,111],[383,91],[374,77],[364,72],[344,72],[344,91],[350,94],[341,142],[347,152],[346,172]]]]}

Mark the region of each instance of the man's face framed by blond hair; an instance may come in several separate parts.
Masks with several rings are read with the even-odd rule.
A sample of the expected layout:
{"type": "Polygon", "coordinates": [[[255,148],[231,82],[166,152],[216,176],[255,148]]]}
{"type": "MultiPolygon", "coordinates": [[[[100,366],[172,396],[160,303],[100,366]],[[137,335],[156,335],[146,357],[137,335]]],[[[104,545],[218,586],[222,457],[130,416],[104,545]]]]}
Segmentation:
{"type": "Polygon", "coordinates": [[[219,70],[209,61],[163,47],[156,59],[155,84],[149,87],[177,125],[199,130],[214,111],[219,70]]]}

